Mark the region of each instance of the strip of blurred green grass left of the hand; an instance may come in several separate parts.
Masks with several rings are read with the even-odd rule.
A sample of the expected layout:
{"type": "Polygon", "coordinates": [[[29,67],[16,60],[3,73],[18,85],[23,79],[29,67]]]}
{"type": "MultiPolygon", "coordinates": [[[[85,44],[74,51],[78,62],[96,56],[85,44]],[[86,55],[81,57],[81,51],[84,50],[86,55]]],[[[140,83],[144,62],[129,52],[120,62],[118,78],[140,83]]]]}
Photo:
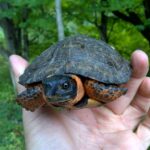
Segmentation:
{"type": "Polygon", "coordinates": [[[21,108],[16,105],[8,62],[0,57],[0,150],[23,150],[21,108]]]}

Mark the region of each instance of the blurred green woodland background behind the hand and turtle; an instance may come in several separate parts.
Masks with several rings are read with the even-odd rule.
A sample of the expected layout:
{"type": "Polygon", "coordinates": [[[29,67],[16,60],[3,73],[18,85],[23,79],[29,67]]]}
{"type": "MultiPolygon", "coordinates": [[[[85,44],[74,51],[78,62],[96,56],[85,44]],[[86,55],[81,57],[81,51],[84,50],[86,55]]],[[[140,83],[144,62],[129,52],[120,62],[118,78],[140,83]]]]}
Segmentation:
{"type": "Polygon", "coordinates": [[[148,0],[0,0],[0,150],[23,150],[21,108],[15,102],[8,58],[32,61],[65,36],[102,39],[130,60],[135,49],[150,57],[148,0]]]}

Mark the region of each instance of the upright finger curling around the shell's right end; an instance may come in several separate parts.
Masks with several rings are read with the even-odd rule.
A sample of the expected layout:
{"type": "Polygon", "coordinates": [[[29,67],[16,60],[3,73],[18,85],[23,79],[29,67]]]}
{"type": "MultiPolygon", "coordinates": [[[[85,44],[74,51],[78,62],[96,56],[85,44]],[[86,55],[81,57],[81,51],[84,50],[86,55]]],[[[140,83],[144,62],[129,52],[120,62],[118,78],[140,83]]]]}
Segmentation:
{"type": "Polygon", "coordinates": [[[148,72],[148,57],[141,51],[136,50],[131,57],[131,65],[133,73],[130,81],[126,84],[128,92],[118,98],[116,101],[107,105],[114,113],[121,114],[130,105],[136,92],[148,72]]]}

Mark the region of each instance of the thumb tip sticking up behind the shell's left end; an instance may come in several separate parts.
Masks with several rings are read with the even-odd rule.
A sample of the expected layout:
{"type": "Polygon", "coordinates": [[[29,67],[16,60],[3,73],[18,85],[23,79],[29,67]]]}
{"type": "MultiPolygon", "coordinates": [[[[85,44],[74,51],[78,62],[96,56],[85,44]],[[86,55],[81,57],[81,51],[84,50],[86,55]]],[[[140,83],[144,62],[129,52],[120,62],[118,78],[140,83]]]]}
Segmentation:
{"type": "Polygon", "coordinates": [[[25,68],[28,66],[28,62],[18,55],[11,55],[9,61],[13,72],[13,79],[17,85],[17,91],[20,93],[24,88],[18,84],[19,76],[23,74],[25,68]]]}

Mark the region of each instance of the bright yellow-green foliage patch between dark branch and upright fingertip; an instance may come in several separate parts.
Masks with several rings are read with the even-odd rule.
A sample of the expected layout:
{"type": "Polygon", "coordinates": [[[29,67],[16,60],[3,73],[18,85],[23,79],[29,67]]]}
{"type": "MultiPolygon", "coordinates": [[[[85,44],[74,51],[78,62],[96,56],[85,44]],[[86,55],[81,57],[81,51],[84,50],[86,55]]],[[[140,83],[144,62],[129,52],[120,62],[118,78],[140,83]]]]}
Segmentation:
{"type": "Polygon", "coordinates": [[[133,25],[126,24],[123,21],[117,22],[114,25],[109,42],[128,59],[131,53],[136,49],[144,50],[149,54],[148,41],[143,38],[133,25]]]}

